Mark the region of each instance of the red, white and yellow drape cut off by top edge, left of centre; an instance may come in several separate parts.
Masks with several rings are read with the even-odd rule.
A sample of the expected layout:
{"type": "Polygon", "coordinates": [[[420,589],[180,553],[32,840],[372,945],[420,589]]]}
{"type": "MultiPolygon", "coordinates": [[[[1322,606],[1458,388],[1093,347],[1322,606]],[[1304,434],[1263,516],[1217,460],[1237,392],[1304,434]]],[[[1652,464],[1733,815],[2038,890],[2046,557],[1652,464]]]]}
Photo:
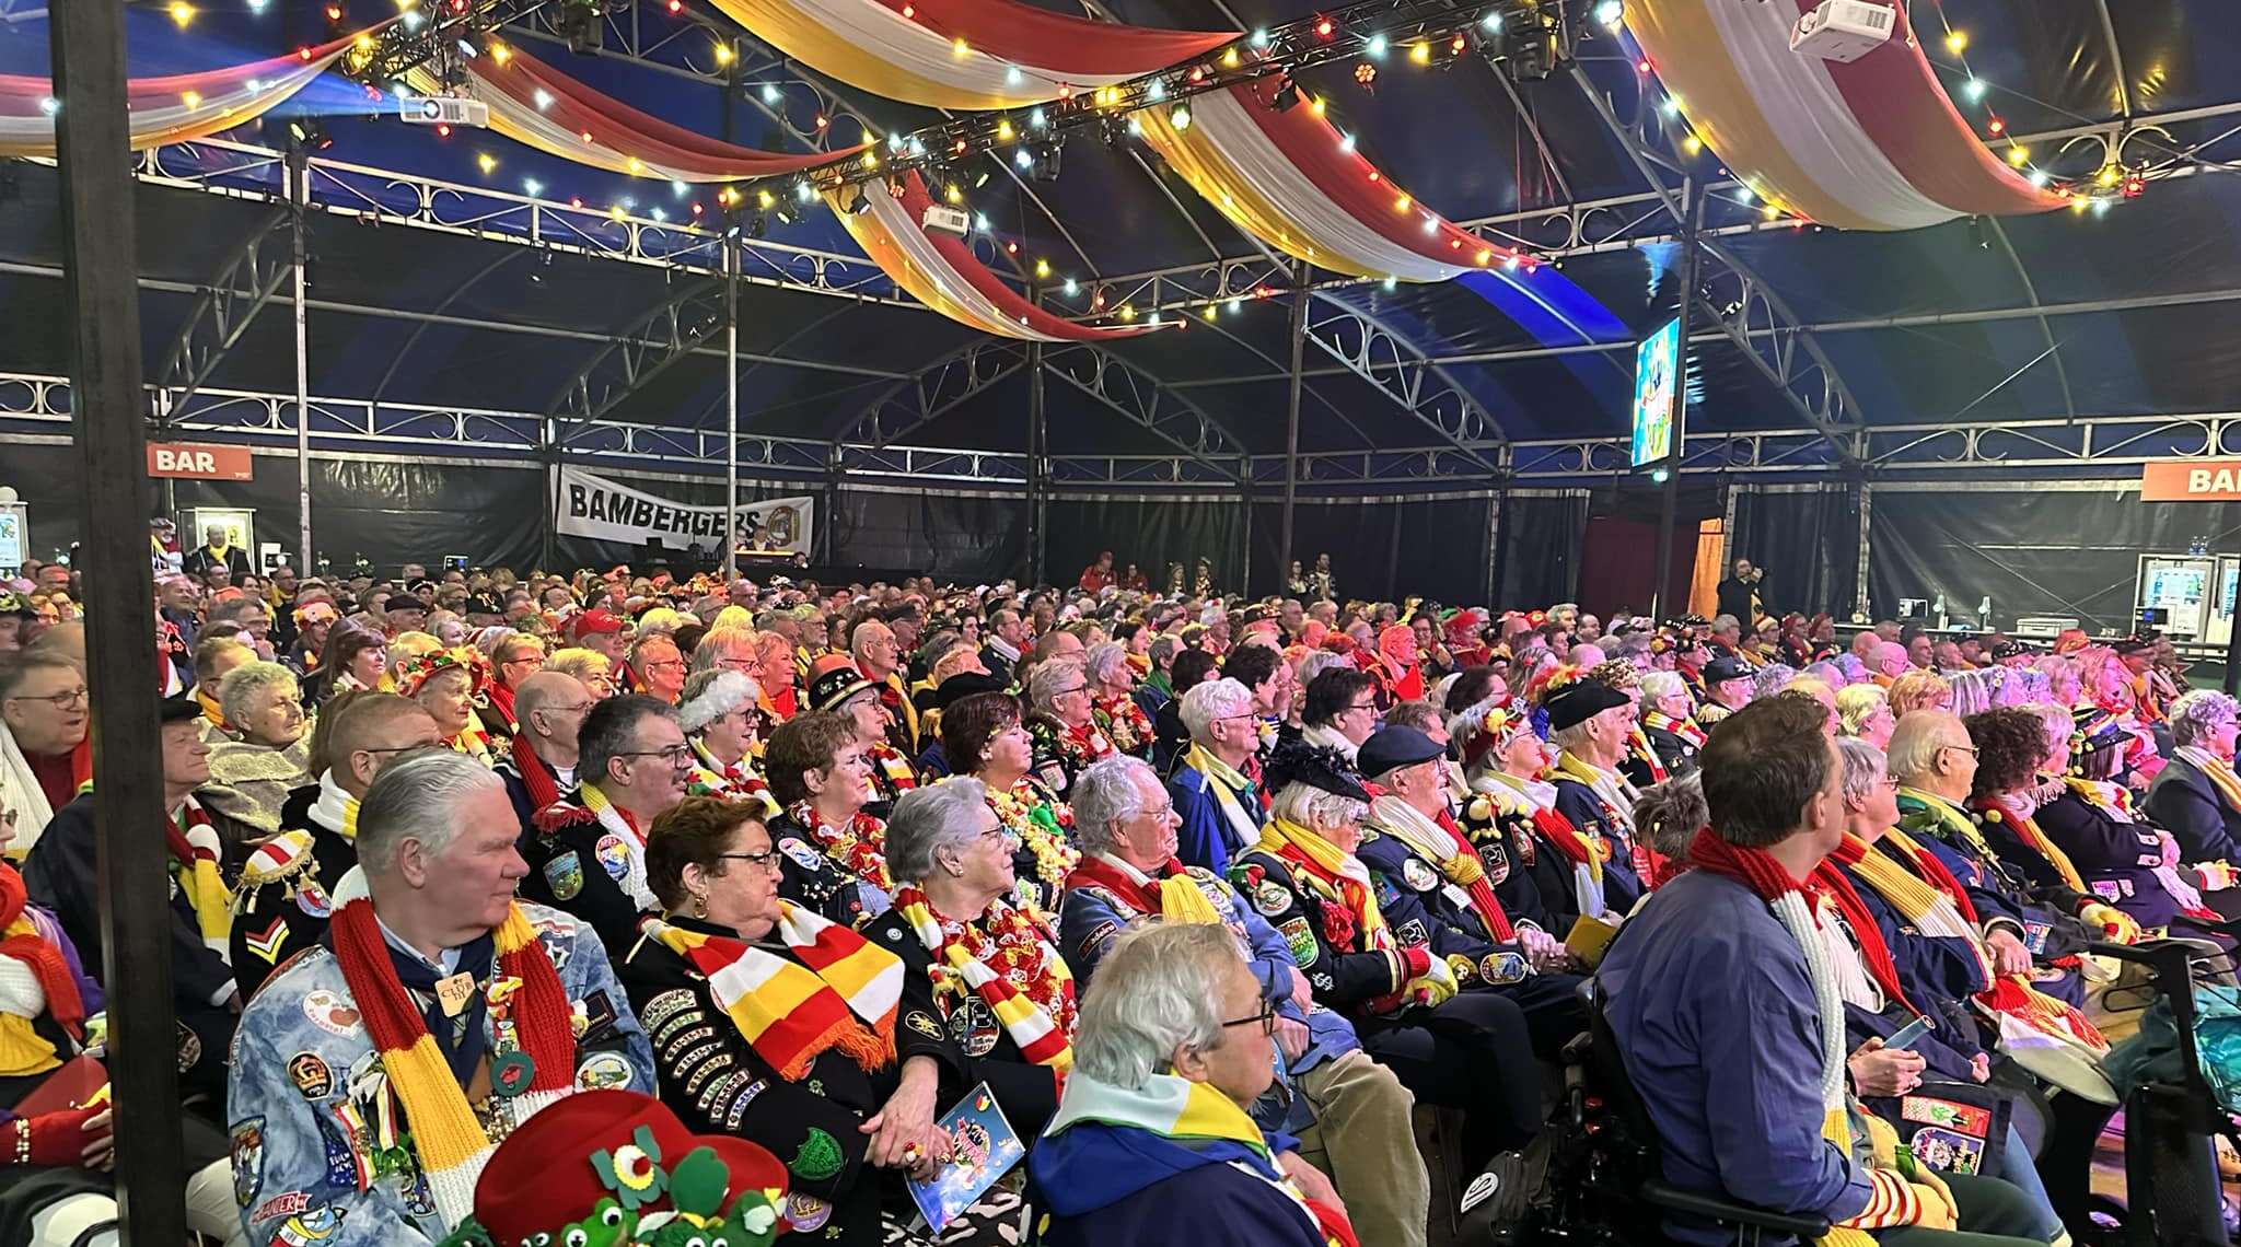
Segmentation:
{"type": "Polygon", "coordinates": [[[1020,107],[1203,56],[1237,31],[1170,31],[1020,0],[715,0],[811,69],[926,107],[1020,107]]]}

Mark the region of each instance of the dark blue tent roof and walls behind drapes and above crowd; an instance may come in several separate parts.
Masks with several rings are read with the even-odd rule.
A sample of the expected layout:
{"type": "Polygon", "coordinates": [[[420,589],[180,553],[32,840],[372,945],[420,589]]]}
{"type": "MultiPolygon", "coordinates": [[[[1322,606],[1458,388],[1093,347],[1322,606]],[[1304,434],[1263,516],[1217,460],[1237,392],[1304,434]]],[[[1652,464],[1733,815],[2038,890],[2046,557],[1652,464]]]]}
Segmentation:
{"type": "MultiPolygon", "coordinates": [[[[1627,452],[1636,345],[1676,318],[1694,273],[1683,584],[1701,546],[1748,549],[1791,602],[1838,618],[1903,598],[1974,618],[1990,598],[2001,627],[2127,625],[2136,555],[2241,526],[2230,504],[2133,493],[2145,459],[2228,452],[2241,181],[2221,175],[2241,157],[2241,25],[2225,0],[1905,4],[1900,38],[1950,123],[2062,204],[1835,228],[1755,195],[1723,132],[1667,85],[1687,67],[1654,63],[1636,31],[1759,4],[1345,9],[1338,38],[1360,54],[1284,81],[1403,201],[1524,257],[1470,264],[1463,249],[1472,271],[1452,280],[1295,262],[1118,112],[1040,130],[1006,110],[1015,141],[921,168],[955,190],[964,244],[1006,289],[1071,322],[1161,325],[1112,340],[995,336],[905,293],[843,219],[856,190],[887,193],[881,175],[827,208],[791,175],[632,177],[495,130],[439,132],[403,123],[392,87],[347,78],[347,43],[258,121],[141,150],[110,228],[137,253],[161,437],[258,450],[255,479],[179,481],[175,506],[253,506],[294,551],[287,168],[309,132],[300,351],[323,566],[627,560],[549,544],[549,470],[710,501],[735,419],[746,497],[822,499],[822,566],[1069,580],[1112,549],[1154,575],[1208,557],[1226,589],[1268,593],[1289,535],[1289,557],[1331,553],[1358,593],[1640,609],[1661,479],[1627,452]],[[1540,13],[1562,38],[1533,65],[1493,31],[1540,13]],[[1401,25],[1385,43],[1387,20],[1430,25],[1436,47],[1401,25]]],[[[1318,16],[1275,0],[1042,7],[1235,31],[1230,47],[1318,16]]],[[[462,20],[428,65],[462,67],[448,90],[473,96],[466,69],[520,49],[648,119],[780,154],[849,152],[863,134],[905,150],[892,137],[988,121],[829,78],[735,9],[594,7],[592,40],[569,4],[444,0],[430,18],[462,20]],[[576,47],[598,47],[574,51],[569,22],[576,47]]],[[[132,4],[128,67],[139,90],[359,29],[388,40],[399,18],[392,0],[132,4]]],[[[45,27],[34,0],[0,0],[0,72],[45,81],[45,27]]],[[[1177,125],[1174,105],[1152,107],[1177,125]]],[[[63,188],[38,154],[0,179],[0,484],[29,504],[45,557],[81,526],[63,188]]]]}

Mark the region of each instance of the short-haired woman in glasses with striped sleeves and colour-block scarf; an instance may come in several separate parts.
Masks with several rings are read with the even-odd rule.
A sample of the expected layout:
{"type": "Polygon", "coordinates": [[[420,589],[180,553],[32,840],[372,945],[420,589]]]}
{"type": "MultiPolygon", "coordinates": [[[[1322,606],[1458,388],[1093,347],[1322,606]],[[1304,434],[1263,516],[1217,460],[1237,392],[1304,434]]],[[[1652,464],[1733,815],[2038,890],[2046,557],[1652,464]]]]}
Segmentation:
{"type": "Polygon", "coordinates": [[[934,1128],[950,1057],[903,1021],[894,954],[782,900],[780,862],[753,806],[686,797],[661,813],[645,840],[661,916],[641,920],[619,978],[632,1012],[677,1037],[654,1052],[657,1081],[692,1133],[793,1157],[798,1229],[896,1243],[903,1218],[883,1207],[908,1209],[903,1178],[950,1157],[934,1128]]]}

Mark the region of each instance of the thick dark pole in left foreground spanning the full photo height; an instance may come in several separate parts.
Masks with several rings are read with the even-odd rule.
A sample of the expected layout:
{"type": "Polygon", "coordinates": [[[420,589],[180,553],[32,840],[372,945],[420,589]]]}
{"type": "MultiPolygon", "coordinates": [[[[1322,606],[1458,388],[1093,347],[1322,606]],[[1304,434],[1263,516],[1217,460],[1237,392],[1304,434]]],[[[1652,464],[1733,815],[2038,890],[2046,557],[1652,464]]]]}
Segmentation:
{"type": "Polygon", "coordinates": [[[61,157],[72,430],[83,470],[85,683],[94,714],[94,871],[117,1101],[117,1209],[132,1245],[186,1243],[179,1166],[179,1048],[170,996],[170,878],[148,853],[164,826],[164,746],[148,645],[148,396],[125,132],[125,7],[49,11],[61,157]]]}

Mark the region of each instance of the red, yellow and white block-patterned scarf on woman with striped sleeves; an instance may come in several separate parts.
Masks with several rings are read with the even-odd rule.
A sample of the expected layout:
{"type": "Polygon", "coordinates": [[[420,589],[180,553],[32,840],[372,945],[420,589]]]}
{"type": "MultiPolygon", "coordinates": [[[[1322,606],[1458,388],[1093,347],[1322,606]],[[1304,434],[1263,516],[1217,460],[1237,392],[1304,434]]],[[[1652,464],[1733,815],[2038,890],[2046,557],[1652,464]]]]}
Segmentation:
{"type": "Polygon", "coordinates": [[[787,900],[773,934],[791,958],[659,918],[641,929],[708,981],[724,1016],[778,1077],[798,1081],[827,1048],[865,1070],[894,1061],[903,960],[856,931],[787,900]]]}

